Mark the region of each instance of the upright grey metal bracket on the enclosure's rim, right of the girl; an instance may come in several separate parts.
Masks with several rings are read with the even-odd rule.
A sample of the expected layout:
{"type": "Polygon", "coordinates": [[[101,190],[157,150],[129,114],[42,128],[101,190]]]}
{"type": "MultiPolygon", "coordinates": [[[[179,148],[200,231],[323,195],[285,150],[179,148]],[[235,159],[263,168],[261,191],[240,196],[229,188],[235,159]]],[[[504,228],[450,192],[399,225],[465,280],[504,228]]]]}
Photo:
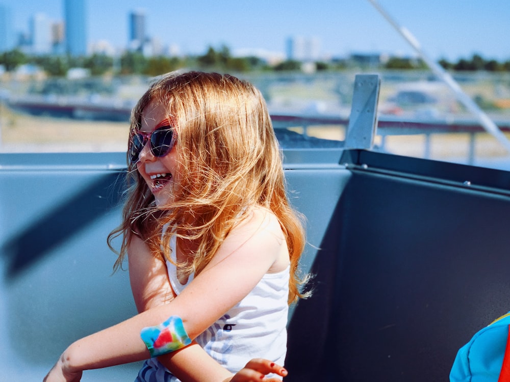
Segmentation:
{"type": "Polygon", "coordinates": [[[377,128],[378,74],[356,74],[345,148],[371,149],[377,128]]]}

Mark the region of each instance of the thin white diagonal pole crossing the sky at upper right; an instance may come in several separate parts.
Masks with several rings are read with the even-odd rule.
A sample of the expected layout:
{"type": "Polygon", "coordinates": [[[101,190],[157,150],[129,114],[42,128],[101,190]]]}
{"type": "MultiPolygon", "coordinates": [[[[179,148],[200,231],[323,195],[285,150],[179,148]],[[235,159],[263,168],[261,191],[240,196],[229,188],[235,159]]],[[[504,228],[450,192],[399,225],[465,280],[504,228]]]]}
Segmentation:
{"type": "Polygon", "coordinates": [[[453,77],[444,70],[444,68],[436,63],[434,60],[431,60],[427,54],[422,50],[420,43],[413,36],[413,34],[405,28],[405,26],[400,26],[397,22],[377,3],[376,0],[368,0],[375,9],[397,30],[398,33],[402,35],[402,37],[409,42],[409,44],[418,52],[422,60],[428,65],[428,67],[438,76],[440,77],[444,83],[455,93],[458,101],[460,101],[466,108],[473,113],[481,125],[486,131],[491,133],[494,138],[496,138],[499,143],[501,143],[508,152],[510,152],[510,141],[506,138],[506,135],[499,129],[499,127],[489,118],[489,116],[481,110],[481,108],[469,97],[460,86],[455,82],[453,77]]]}

